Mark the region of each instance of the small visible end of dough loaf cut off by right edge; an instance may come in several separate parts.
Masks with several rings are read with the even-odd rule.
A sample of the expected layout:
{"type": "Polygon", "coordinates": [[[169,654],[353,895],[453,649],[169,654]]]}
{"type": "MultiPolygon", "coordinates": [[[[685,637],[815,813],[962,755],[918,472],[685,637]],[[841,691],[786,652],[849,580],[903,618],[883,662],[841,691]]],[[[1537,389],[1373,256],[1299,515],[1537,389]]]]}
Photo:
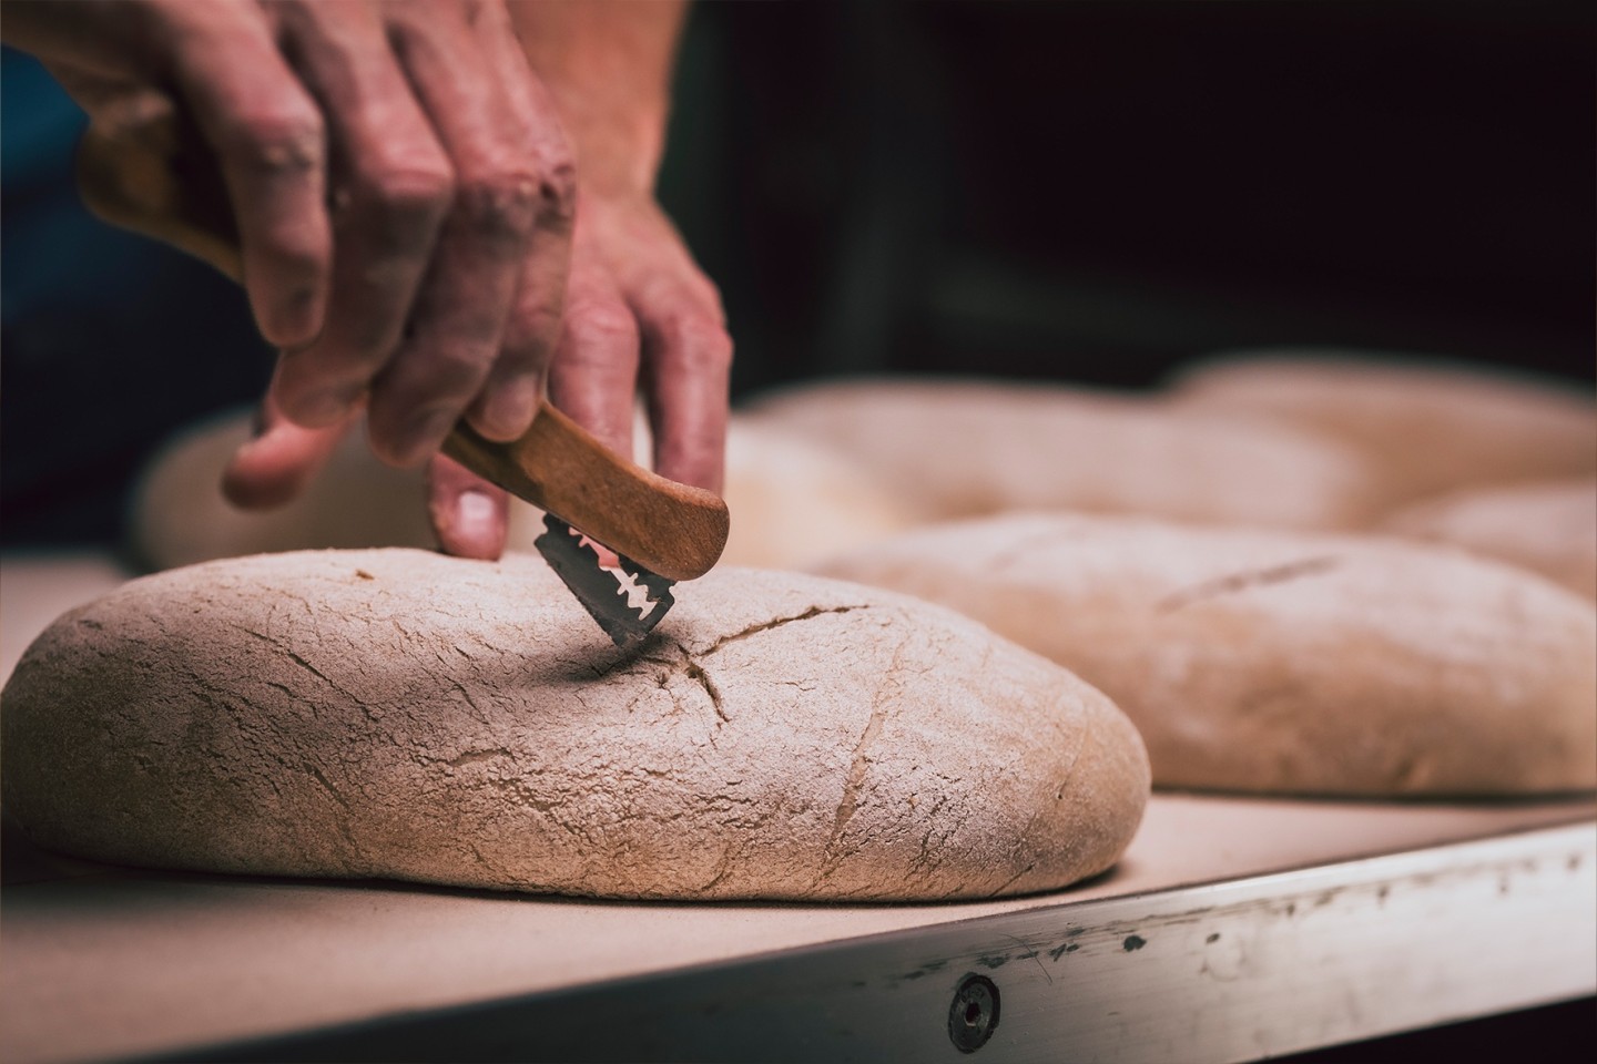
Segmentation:
{"type": "Polygon", "coordinates": [[[1453,491],[1393,514],[1383,528],[1509,562],[1597,598],[1597,480],[1453,491]]]}

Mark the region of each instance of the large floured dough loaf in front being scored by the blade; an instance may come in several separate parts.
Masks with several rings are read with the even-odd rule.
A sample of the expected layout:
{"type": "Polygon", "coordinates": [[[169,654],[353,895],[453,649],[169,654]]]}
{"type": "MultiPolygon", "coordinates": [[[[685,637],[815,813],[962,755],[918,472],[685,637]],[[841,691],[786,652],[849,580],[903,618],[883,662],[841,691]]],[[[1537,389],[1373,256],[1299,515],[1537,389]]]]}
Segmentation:
{"type": "Polygon", "coordinates": [[[1064,887],[1148,786],[1108,699],[934,606],[717,569],[623,656],[541,560],[417,550],[134,581],[34,643],[0,721],[46,847],[621,898],[1064,887]]]}

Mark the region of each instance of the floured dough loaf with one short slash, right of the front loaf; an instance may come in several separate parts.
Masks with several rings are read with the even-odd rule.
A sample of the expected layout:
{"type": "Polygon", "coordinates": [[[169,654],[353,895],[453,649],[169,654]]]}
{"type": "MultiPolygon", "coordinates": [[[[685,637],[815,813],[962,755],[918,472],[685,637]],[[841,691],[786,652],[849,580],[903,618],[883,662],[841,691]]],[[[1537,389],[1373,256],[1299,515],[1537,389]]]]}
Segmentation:
{"type": "Polygon", "coordinates": [[[1597,786],[1597,611],[1447,547],[1011,515],[827,566],[1072,668],[1156,785],[1310,794],[1597,786]]]}

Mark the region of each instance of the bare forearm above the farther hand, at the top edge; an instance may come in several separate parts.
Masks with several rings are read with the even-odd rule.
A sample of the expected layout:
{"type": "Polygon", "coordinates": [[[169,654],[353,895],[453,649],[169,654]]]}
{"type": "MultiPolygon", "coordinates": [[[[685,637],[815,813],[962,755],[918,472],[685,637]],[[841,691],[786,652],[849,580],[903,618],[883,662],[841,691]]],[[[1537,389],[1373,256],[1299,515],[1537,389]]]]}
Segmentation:
{"type": "Polygon", "coordinates": [[[647,193],[664,152],[685,0],[521,0],[511,18],[591,195],[647,193]]]}

